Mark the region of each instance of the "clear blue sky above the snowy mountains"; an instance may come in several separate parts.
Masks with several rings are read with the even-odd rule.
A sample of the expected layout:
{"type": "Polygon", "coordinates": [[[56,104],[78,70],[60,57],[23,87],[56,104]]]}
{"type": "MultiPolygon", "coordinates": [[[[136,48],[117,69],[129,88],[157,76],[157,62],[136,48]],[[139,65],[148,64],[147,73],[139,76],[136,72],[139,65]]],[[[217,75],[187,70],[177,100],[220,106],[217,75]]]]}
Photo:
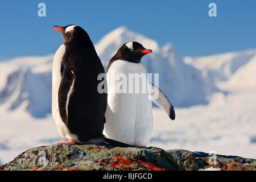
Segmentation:
{"type": "Polygon", "coordinates": [[[49,55],[63,43],[53,26],[77,24],[93,43],[119,26],[172,43],[180,56],[256,48],[255,0],[1,0],[0,57],[49,55]],[[38,4],[46,4],[46,17],[38,4]],[[209,3],[217,16],[210,17],[209,3]]]}

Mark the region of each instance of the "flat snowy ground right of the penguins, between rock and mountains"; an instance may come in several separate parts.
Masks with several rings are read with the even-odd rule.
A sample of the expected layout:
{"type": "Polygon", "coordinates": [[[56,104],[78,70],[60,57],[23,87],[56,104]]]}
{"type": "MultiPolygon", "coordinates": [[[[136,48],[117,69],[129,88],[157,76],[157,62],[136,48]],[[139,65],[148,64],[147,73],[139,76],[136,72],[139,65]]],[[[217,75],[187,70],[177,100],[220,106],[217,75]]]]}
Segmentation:
{"type": "Polygon", "coordinates": [[[256,96],[245,94],[217,93],[209,105],[176,109],[174,122],[154,109],[150,145],[256,159],[256,96]]]}

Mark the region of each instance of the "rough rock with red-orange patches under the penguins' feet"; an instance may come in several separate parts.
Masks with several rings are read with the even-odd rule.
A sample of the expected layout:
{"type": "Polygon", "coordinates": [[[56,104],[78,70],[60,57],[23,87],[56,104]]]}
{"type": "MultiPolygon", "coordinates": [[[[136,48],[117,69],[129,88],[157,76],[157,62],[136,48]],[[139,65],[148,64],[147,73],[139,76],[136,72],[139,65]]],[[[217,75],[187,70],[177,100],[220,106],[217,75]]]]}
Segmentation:
{"type": "Polygon", "coordinates": [[[181,149],[165,151],[156,147],[109,148],[96,145],[53,144],[31,148],[1,166],[0,170],[195,171],[207,168],[255,170],[256,160],[181,149]]]}

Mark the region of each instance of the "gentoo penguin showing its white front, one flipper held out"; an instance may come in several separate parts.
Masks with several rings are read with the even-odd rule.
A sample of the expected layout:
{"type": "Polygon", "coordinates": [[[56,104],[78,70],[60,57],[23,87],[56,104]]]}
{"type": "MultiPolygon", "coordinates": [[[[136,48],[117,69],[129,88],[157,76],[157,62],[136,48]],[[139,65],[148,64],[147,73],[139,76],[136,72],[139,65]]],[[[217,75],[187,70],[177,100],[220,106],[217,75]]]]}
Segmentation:
{"type": "Polygon", "coordinates": [[[174,107],[170,100],[147,80],[147,71],[141,63],[141,59],[151,52],[150,49],[144,48],[138,42],[128,42],[123,44],[109,61],[106,70],[108,106],[104,128],[105,133],[111,139],[146,147],[153,128],[151,101],[162,107],[172,120],[175,119],[174,107]],[[134,76],[142,80],[142,85],[130,80],[134,79],[134,76]],[[144,86],[143,78],[146,83],[144,86]],[[125,84],[129,88],[123,89],[126,87],[125,84]],[[134,88],[136,90],[138,87],[139,92],[135,92],[134,88]],[[143,88],[150,88],[150,92],[142,92],[143,88]],[[158,91],[159,97],[151,99],[151,91],[154,90],[158,91]]]}

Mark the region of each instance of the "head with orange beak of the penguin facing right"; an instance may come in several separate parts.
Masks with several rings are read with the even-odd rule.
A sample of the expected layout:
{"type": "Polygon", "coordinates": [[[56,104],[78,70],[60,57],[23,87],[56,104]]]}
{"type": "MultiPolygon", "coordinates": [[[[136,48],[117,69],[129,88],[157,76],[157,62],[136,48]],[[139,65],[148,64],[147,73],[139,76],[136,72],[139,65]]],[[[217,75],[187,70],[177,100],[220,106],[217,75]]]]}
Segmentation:
{"type": "Polygon", "coordinates": [[[151,49],[144,48],[142,44],[138,42],[127,42],[118,49],[117,56],[121,60],[139,63],[144,55],[151,52],[151,49]]]}

